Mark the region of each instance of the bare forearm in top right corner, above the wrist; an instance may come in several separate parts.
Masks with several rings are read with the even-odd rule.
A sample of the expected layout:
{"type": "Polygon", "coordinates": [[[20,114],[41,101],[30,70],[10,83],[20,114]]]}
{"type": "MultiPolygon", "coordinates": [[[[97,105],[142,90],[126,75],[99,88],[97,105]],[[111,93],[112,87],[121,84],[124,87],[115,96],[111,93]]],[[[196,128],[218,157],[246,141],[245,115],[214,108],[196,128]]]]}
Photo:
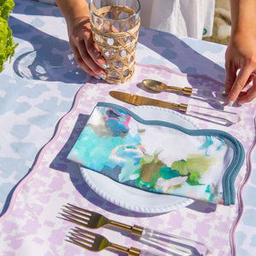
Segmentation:
{"type": "Polygon", "coordinates": [[[256,0],[230,0],[231,36],[253,33],[256,36],[256,0]]]}

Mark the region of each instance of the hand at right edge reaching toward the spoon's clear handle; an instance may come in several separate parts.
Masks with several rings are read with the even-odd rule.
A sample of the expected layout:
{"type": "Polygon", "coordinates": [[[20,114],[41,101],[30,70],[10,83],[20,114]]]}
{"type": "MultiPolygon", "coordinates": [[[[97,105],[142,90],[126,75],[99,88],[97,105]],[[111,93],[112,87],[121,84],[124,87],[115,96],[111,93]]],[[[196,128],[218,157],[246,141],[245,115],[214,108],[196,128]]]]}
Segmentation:
{"type": "Polygon", "coordinates": [[[225,94],[227,103],[242,104],[252,102],[256,97],[256,38],[250,34],[236,35],[230,38],[226,50],[225,94]],[[239,71],[238,74],[236,72],[239,71]],[[252,86],[247,86],[253,81],[252,86]]]}

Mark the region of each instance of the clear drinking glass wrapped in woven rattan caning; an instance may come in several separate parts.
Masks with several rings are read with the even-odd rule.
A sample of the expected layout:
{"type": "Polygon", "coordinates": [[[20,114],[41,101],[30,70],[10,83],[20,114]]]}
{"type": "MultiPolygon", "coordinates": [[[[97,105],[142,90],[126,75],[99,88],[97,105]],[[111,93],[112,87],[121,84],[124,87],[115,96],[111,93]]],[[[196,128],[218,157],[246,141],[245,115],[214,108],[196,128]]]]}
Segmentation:
{"type": "Polygon", "coordinates": [[[124,83],[134,73],[140,9],[139,0],[90,0],[90,26],[107,61],[108,83],[124,83]]]}

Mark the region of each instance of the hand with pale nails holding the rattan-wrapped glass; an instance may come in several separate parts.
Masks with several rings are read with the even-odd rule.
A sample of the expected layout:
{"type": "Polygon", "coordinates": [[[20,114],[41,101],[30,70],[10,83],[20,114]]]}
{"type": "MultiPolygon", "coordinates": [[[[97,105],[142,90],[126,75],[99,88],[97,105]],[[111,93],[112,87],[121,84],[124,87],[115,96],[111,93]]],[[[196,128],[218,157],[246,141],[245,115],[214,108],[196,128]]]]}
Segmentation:
{"type": "Polygon", "coordinates": [[[69,44],[79,66],[96,79],[105,79],[107,63],[93,40],[90,18],[79,17],[67,23],[69,44]]]}

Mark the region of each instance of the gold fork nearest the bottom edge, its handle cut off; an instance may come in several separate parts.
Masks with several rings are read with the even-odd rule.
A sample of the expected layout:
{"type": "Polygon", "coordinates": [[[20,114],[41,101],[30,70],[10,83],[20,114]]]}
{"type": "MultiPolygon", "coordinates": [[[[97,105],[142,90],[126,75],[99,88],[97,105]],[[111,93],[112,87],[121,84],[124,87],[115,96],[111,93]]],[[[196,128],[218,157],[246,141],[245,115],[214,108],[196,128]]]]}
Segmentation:
{"type": "Polygon", "coordinates": [[[70,232],[70,236],[67,237],[70,239],[70,242],[93,252],[99,252],[103,249],[111,248],[119,252],[127,253],[129,256],[161,256],[160,254],[146,250],[139,250],[135,247],[127,248],[114,244],[108,241],[104,236],[92,233],[88,230],[79,229],[78,227],[73,229],[73,232],[70,232]]]}

